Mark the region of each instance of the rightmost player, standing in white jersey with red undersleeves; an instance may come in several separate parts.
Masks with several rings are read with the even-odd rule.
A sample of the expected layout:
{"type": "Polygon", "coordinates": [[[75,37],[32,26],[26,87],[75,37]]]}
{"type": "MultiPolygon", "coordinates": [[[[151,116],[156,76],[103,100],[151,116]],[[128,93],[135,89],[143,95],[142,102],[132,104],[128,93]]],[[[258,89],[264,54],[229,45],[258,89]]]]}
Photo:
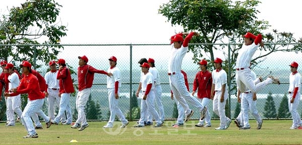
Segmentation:
{"type": "Polygon", "coordinates": [[[289,74],[288,109],[292,115],[292,125],[289,129],[297,129],[302,123],[297,111],[301,97],[301,75],[297,72],[298,63],[292,62],[289,66],[291,73],[289,74]]]}

